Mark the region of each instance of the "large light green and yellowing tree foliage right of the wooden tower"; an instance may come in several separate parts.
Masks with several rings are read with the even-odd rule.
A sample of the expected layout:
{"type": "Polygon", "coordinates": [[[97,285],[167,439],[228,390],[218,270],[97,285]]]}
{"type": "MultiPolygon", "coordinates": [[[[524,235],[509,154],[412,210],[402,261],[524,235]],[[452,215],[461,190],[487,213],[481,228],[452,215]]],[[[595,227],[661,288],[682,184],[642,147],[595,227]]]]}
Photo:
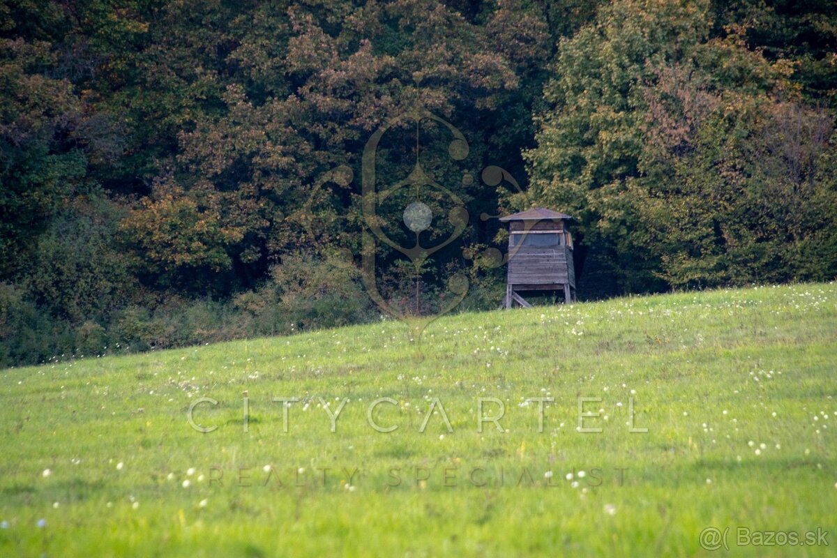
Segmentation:
{"type": "Polygon", "coordinates": [[[710,28],[707,3],[614,3],[562,42],[545,89],[529,197],[580,218],[621,291],[834,269],[809,259],[837,230],[833,117],[740,28],[710,28]]]}

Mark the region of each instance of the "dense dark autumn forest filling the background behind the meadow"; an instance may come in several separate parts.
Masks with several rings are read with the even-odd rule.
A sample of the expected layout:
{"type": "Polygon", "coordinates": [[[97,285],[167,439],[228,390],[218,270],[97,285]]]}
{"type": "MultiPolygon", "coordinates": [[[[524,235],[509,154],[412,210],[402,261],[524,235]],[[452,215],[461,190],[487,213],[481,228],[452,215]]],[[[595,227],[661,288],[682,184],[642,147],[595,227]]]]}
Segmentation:
{"type": "Polygon", "coordinates": [[[833,1],[0,0],[0,44],[0,366],[379,319],[362,151],[419,105],[469,143],[418,132],[471,218],[421,269],[378,254],[405,312],[454,274],[495,308],[477,216],[531,204],[578,220],[581,299],[837,275],[833,1]],[[524,192],[462,178],[490,165],[524,192]]]}

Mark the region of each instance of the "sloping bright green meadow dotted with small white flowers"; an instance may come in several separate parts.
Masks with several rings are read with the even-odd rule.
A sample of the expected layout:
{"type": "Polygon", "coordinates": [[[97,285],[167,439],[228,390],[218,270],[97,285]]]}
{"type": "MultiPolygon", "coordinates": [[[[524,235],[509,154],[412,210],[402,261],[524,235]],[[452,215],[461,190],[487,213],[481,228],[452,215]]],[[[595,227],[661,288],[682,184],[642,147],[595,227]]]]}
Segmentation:
{"type": "Polygon", "coordinates": [[[800,284],[0,371],[0,555],[834,555],[835,366],[800,284]]]}

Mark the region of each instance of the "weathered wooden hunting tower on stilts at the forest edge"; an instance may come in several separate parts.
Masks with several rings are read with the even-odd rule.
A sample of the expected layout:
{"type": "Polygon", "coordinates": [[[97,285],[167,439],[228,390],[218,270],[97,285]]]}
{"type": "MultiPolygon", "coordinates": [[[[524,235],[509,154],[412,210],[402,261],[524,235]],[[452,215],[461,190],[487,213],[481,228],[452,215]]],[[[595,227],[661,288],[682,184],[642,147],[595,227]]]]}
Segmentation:
{"type": "Polygon", "coordinates": [[[531,305],[521,293],[563,291],[564,302],[575,299],[573,237],[564,213],[535,207],[501,218],[509,223],[509,264],[506,279],[506,308],[516,302],[531,305]]]}

